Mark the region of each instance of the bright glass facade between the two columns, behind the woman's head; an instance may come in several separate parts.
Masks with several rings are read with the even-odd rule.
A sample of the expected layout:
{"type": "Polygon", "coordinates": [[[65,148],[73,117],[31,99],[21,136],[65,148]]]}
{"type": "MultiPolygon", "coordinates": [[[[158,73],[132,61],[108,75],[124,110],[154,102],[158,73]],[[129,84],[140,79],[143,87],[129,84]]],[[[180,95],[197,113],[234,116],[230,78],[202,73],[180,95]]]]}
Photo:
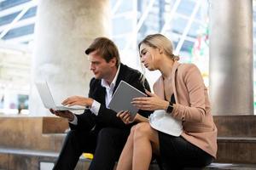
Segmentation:
{"type": "MultiPolygon", "coordinates": [[[[117,1],[111,2],[111,8],[115,8],[117,1]]],[[[182,62],[193,62],[199,66],[208,84],[208,65],[205,65],[209,59],[207,0],[119,2],[120,9],[112,17],[112,37],[125,64],[140,68],[137,43],[148,34],[160,32],[172,40],[175,54],[182,62]],[[121,10],[123,6],[125,10],[121,10]]],[[[145,73],[146,76],[149,74],[145,73]]],[[[157,73],[148,75],[149,82],[152,84],[158,76],[157,73]]]]}

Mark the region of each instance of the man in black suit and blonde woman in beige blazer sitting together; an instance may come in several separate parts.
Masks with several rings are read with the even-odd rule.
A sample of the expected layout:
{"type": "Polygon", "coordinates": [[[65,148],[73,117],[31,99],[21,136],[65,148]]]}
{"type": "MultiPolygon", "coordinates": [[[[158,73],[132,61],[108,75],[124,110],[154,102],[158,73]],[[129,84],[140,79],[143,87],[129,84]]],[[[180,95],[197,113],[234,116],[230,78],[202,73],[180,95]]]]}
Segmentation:
{"type": "Polygon", "coordinates": [[[142,73],[120,63],[119,51],[108,38],[96,38],[85,50],[95,76],[89,97],[72,96],[62,104],[90,109],[81,115],[50,110],[67,118],[71,128],[54,169],[74,169],[83,152],[94,154],[91,170],[113,169],[116,161],[118,170],[146,170],[153,156],[161,169],[204,167],[214,160],[217,128],[199,69],[177,62],[172,42],[160,34],[145,37],[138,48],[143,65],[161,73],[154,93],[142,73]],[[148,94],[133,99],[139,109],[134,120],[128,111],[108,109],[121,80],[148,94]]]}

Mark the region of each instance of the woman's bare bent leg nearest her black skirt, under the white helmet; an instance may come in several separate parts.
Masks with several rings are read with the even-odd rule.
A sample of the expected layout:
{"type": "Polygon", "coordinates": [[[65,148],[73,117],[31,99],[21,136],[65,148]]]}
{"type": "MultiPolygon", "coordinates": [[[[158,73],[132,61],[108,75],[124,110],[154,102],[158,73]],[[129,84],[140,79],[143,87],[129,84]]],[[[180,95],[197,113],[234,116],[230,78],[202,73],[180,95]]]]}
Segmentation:
{"type": "Polygon", "coordinates": [[[152,154],[159,155],[158,132],[148,122],[137,124],[133,141],[133,170],[148,170],[152,154]]]}

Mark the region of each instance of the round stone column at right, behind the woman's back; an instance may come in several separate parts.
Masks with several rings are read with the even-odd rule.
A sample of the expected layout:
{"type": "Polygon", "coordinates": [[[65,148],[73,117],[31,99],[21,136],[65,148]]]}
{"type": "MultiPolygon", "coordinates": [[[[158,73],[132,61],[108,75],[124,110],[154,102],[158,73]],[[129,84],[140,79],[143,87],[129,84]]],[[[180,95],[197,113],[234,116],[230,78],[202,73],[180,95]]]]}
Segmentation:
{"type": "Polygon", "coordinates": [[[253,1],[210,0],[213,115],[253,115],[253,1]]]}

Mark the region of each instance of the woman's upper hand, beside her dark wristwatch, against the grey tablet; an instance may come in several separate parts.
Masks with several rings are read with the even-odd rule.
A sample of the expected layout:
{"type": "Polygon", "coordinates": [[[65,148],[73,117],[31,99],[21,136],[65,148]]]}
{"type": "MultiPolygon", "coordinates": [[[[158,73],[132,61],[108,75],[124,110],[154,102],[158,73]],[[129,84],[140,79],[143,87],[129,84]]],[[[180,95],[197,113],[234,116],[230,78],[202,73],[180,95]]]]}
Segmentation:
{"type": "Polygon", "coordinates": [[[149,97],[134,98],[131,104],[144,111],[166,110],[169,102],[146,90],[149,97]]]}

